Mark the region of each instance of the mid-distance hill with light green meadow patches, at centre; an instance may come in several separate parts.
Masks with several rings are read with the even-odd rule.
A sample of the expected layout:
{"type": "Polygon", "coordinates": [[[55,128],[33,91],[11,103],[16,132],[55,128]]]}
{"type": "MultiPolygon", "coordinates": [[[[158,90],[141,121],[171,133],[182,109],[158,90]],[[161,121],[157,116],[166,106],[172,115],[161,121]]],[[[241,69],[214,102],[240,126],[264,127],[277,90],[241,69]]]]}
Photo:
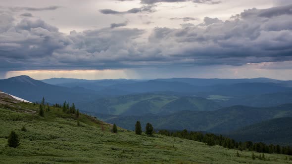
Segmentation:
{"type": "Polygon", "coordinates": [[[91,102],[77,103],[81,110],[108,115],[170,114],[182,110],[213,111],[220,108],[216,102],[201,97],[186,97],[168,94],[142,93],[91,102]]]}

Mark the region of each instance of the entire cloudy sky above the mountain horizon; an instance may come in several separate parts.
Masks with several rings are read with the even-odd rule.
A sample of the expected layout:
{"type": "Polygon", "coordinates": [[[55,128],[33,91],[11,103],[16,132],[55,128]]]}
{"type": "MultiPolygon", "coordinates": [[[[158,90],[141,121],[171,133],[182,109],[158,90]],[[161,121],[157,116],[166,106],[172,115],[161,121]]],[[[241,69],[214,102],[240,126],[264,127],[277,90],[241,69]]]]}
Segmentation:
{"type": "Polygon", "coordinates": [[[292,80],[291,0],[0,0],[0,79],[292,80]]]}

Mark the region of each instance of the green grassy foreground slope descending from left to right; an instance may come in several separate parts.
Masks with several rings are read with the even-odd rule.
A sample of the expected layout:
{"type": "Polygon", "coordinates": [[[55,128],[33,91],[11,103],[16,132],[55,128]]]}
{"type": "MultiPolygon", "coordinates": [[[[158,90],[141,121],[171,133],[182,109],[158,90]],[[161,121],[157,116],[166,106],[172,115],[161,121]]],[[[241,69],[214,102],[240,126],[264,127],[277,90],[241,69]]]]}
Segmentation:
{"type": "MultiPolygon", "coordinates": [[[[14,104],[13,108],[0,106],[0,163],[1,164],[58,164],[58,163],[289,163],[285,155],[266,154],[270,162],[252,160],[251,152],[240,152],[220,146],[186,139],[154,135],[135,135],[119,128],[110,132],[111,125],[81,115],[80,123],[74,116],[61,109],[38,116],[37,106],[27,103],[14,104]],[[101,130],[103,124],[105,130],[101,130]],[[26,132],[20,131],[25,125],[26,132]],[[9,132],[14,129],[21,138],[18,148],[7,147],[9,132]],[[174,146],[174,147],[173,147],[174,146]]],[[[256,155],[258,155],[256,153],[256,155]]]]}

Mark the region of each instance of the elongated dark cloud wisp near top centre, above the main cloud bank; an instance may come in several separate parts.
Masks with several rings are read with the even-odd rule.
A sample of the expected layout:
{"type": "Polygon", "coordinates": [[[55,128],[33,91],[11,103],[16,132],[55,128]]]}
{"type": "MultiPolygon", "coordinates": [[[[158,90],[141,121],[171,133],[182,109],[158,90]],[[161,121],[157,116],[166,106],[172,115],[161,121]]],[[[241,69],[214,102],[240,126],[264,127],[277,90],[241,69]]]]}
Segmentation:
{"type": "Polygon", "coordinates": [[[99,12],[102,14],[135,14],[139,12],[154,12],[155,10],[153,9],[154,5],[144,5],[140,8],[132,8],[127,11],[116,11],[112,9],[101,9],[99,12]]]}

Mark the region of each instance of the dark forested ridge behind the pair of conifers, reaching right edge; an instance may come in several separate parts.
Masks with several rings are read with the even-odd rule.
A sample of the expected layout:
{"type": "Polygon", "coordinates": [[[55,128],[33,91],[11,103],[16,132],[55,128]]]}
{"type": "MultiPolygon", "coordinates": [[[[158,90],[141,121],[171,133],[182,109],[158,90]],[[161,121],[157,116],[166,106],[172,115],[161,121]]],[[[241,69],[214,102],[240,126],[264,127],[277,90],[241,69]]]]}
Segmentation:
{"type": "MultiPolygon", "coordinates": [[[[98,114],[96,116],[98,117],[98,114]]],[[[143,126],[149,122],[157,129],[188,129],[220,134],[274,118],[292,117],[292,104],[267,108],[231,106],[216,111],[180,111],[164,116],[111,116],[106,118],[103,115],[102,117],[108,123],[118,123],[127,129],[133,129],[133,124],[139,120],[143,126]]]]}

